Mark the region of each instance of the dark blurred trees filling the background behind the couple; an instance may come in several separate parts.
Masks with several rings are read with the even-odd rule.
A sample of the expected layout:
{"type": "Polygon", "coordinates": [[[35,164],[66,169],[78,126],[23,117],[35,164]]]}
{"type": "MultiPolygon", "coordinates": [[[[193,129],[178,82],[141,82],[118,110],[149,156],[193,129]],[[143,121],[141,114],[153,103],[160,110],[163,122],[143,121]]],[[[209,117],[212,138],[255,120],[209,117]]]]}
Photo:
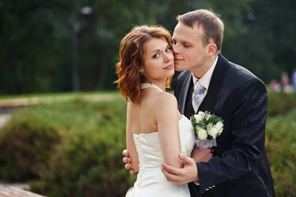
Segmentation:
{"type": "Polygon", "coordinates": [[[0,94],[72,90],[71,18],[83,6],[92,15],[78,33],[82,91],[115,89],[120,40],[133,25],[162,24],[212,8],[225,23],[222,55],[264,82],[295,67],[296,2],[283,0],[0,0],[0,94]]]}

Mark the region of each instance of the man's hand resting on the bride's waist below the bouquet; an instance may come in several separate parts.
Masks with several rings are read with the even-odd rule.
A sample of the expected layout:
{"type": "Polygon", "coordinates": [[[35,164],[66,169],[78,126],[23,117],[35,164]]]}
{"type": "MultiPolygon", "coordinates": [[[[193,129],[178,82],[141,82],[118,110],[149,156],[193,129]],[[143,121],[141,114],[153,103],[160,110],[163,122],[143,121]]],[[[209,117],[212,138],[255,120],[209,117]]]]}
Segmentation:
{"type": "Polygon", "coordinates": [[[180,160],[185,162],[184,167],[176,168],[167,164],[161,164],[161,171],[165,178],[178,185],[198,181],[197,167],[194,160],[182,154],[179,154],[178,156],[180,160]]]}

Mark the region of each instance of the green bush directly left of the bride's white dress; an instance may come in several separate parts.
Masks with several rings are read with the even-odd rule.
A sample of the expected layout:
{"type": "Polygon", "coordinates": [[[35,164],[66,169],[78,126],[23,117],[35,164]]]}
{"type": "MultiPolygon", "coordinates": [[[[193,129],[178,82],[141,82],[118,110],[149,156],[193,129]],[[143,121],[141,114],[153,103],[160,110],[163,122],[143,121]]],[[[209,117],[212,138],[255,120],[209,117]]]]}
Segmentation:
{"type": "MultiPolygon", "coordinates": [[[[97,119],[83,128],[71,128],[40,171],[31,190],[52,197],[122,197],[134,183],[123,167],[126,148],[126,102],[109,102],[96,110],[97,119]]],[[[88,117],[91,119],[91,117],[88,117]]]]}

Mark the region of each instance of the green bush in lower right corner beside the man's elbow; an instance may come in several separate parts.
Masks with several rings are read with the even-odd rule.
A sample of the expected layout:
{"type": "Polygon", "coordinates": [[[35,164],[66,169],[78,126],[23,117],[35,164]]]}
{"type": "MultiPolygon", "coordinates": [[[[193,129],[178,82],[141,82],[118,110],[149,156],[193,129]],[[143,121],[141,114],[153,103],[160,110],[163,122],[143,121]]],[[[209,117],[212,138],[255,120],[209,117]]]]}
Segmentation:
{"type": "Polygon", "coordinates": [[[296,110],[268,117],[265,147],[276,196],[296,196],[296,110]]]}

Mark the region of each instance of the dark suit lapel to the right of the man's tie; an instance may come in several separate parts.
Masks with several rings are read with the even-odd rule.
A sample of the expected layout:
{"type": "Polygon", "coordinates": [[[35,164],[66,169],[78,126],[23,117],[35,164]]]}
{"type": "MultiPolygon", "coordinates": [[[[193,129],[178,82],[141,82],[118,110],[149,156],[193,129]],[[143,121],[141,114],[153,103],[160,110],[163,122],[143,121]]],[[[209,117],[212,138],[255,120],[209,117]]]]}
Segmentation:
{"type": "Polygon", "coordinates": [[[228,60],[226,60],[221,54],[218,55],[217,65],[213,71],[209,89],[206,97],[201,102],[198,111],[211,111],[214,112],[214,106],[216,99],[221,90],[222,83],[228,68],[228,60]]]}

